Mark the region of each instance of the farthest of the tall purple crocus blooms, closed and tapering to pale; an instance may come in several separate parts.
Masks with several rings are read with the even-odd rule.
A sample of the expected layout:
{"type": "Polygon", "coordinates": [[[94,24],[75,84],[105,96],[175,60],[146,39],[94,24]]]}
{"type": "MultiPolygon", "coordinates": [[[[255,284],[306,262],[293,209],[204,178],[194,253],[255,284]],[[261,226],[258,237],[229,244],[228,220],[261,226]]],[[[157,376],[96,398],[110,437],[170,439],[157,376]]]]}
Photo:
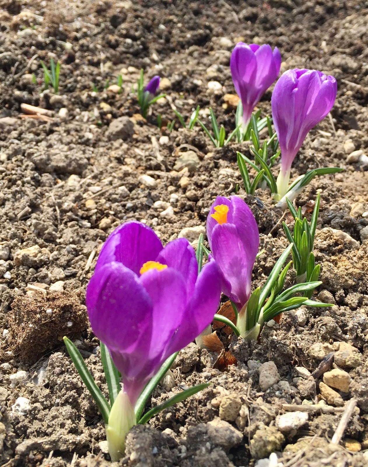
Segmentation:
{"type": "Polygon", "coordinates": [[[278,77],[281,55],[278,48],[263,44],[238,42],[231,53],[230,70],[234,87],[243,105],[243,127],[246,129],[254,107],[278,77]]]}

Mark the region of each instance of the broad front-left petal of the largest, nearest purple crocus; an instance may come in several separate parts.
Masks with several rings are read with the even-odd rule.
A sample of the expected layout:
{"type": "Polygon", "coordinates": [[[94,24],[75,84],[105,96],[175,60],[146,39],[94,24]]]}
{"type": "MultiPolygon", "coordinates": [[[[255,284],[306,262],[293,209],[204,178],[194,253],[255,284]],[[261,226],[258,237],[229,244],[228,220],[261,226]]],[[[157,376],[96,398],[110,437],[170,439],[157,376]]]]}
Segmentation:
{"type": "Polygon", "coordinates": [[[127,355],[124,367],[115,362],[119,371],[134,373],[134,367],[142,364],[135,357],[136,349],[146,354],[152,333],[153,305],[139,278],[118,262],[102,266],[90,279],[86,305],[98,339],[109,349],[127,355]]]}

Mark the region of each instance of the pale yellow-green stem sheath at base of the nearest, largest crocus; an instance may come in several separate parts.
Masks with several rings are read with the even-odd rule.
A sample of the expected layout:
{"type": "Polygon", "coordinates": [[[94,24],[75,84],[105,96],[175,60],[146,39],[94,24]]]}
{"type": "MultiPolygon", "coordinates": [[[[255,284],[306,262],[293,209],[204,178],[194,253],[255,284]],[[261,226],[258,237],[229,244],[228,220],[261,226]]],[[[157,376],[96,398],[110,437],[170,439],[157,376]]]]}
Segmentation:
{"type": "Polygon", "coordinates": [[[125,452],[125,436],[136,425],[134,407],[124,391],[118,393],[112,404],[109,423],[106,425],[106,439],[112,462],[117,462],[125,452]]]}

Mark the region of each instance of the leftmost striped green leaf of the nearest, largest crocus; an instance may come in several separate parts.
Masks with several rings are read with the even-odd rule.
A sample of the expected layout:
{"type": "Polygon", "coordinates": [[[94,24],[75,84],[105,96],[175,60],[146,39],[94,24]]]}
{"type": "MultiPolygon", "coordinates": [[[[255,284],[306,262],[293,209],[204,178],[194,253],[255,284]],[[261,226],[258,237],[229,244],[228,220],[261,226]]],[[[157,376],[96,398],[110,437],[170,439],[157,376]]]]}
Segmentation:
{"type": "Polygon", "coordinates": [[[101,415],[104,419],[104,423],[107,424],[109,421],[110,415],[110,405],[107,400],[104,398],[104,395],[101,392],[101,389],[94,382],[92,375],[90,374],[86,364],[84,363],[83,357],[80,354],[79,350],[73,344],[73,342],[68,339],[66,336],[63,337],[65,347],[68,350],[69,356],[74,363],[77,372],[79,373],[82,381],[86,385],[87,389],[90,391],[90,395],[93,397],[93,400],[97,403],[97,406],[101,412],[101,415]]]}

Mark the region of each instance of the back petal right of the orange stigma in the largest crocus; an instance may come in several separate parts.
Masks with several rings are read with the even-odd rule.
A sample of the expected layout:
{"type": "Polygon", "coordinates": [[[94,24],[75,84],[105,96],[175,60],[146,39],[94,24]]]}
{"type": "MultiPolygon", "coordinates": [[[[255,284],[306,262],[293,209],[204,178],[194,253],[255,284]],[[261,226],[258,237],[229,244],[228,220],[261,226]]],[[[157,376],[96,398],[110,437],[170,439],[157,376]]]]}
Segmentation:
{"type": "Polygon", "coordinates": [[[198,263],[189,241],[186,238],[170,241],[160,251],[156,261],[176,269],[185,278],[187,295],[190,296],[197,280],[198,263]]]}

